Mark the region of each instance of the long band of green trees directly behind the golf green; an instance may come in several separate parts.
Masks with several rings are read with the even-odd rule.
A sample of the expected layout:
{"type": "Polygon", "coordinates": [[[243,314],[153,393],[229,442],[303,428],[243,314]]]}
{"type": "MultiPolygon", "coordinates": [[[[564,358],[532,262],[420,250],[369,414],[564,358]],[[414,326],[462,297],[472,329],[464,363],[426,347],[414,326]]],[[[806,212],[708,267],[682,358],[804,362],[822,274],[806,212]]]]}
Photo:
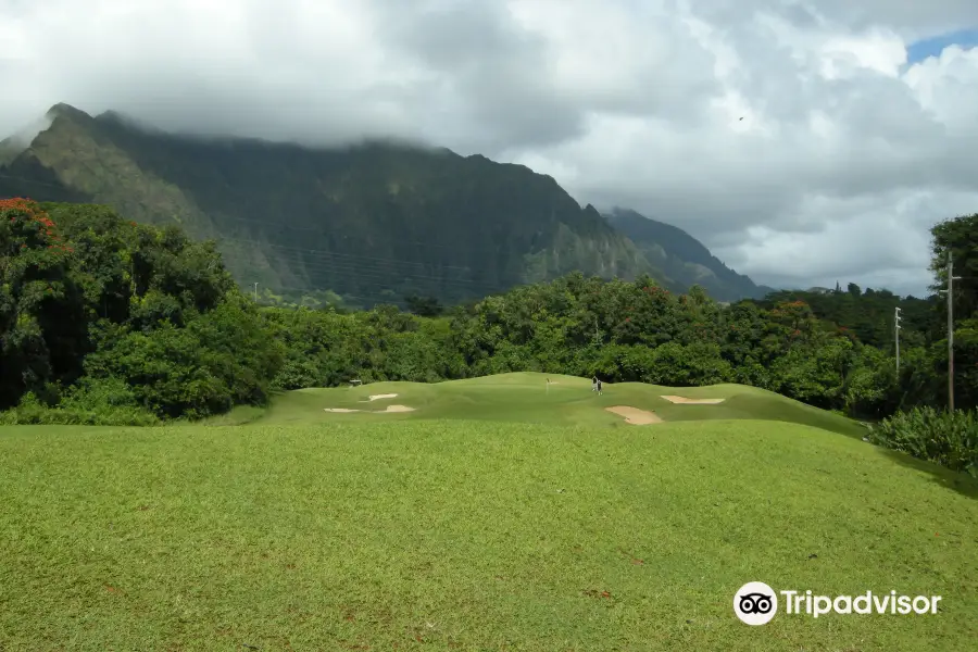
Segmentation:
{"type": "Polygon", "coordinates": [[[699,288],[676,296],[645,277],[572,274],[437,318],[392,306],[261,314],[286,351],[275,379],[283,389],[530,369],[670,386],[745,383],[867,417],[900,402],[892,356],[802,301],[725,308],[699,288]]]}

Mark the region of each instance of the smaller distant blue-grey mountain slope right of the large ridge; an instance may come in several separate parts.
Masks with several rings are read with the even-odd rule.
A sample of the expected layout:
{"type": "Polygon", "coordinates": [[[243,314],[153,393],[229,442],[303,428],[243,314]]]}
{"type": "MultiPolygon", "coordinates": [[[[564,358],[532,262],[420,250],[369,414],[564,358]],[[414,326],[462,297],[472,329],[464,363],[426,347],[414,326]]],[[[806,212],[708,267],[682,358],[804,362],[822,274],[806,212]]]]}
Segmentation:
{"type": "Polygon", "coordinates": [[[763,299],[775,291],[727,267],[681,228],[627,209],[615,209],[604,217],[635,242],[651,265],[679,286],[700,285],[717,301],[763,299]]]}

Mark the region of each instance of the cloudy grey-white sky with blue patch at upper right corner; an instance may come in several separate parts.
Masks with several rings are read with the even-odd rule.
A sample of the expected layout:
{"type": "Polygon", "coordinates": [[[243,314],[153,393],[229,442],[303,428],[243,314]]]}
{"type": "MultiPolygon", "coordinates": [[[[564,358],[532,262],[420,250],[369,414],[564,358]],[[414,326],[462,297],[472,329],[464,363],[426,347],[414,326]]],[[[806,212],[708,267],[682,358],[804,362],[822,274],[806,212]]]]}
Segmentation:
{"type": "Polygon", "coordinates": [[[921,296],[978,213],[978,2],[0,0],[0,134],[394,136],[528,165],[776,287],[921,296]]]}

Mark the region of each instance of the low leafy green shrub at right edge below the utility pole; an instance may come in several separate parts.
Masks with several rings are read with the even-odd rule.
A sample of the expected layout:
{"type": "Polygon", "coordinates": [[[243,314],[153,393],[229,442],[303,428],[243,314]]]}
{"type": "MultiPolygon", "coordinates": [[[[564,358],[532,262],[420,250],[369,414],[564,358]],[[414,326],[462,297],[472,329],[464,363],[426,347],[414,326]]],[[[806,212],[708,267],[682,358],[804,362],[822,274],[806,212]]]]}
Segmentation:
{"type": "Polygon", "coordinates": [[[978,477],[978,413],[914,408],[870,426],[869,440],[978,477]]]}

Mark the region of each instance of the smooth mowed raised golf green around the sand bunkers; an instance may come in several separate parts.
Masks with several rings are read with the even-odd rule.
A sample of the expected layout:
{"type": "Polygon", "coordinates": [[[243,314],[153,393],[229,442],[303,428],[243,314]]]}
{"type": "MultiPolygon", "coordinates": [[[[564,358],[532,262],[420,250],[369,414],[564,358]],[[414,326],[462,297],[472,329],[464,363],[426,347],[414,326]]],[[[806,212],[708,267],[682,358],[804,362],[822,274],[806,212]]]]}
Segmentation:
{"type": "MultiPolygon", "coordinates": [[[[641,383],[604,384],[601,397],[591,381],[573,376],[535,373],[501,374],[485,378],[438,384],[377,383],[360,387],[303,389],[286,392],[262,415],[242,409],[225,417],[263,424],[384,423],[391,419],[478,419],[587,427],[631,427],[605,411],[628,405],[654,412],[666,422],[704,419],[770,419],[797,423],[863,437],[865,428],[852,419],[805,405],[780,394],[744,385],[672,388],[641,383]],[[547,379],[552,381],[547,385],[547,379]],[[396,398],[369,401],[371,396],[396,398]],[[663,396],[724,399],[717,404],[676,404],[663,396]],[[387,405],[409,405],[414,412],[374,414],[387,405]],[[362,410],[351,414],[327,413],[326,408],[362,410]]],[[[227,422],[230,418],[231,422],[227,422]]]]}

